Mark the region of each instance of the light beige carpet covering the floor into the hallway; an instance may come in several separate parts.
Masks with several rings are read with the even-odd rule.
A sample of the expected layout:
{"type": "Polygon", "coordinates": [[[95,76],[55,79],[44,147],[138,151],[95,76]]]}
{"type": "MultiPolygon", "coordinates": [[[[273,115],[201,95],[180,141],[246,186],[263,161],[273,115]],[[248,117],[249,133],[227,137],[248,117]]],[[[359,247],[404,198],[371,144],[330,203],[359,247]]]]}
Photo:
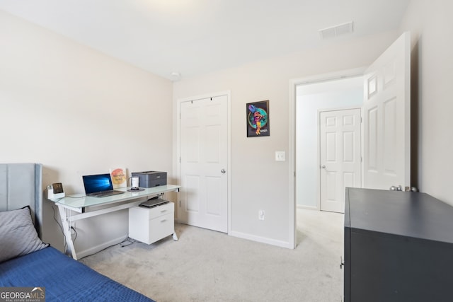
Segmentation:
{"type": "Polygon", "coordinates": [[[176,224],[171,237],[81,260],[159,302],[341,301],[343,214],[297,211],[297,248],[176,224]]]}

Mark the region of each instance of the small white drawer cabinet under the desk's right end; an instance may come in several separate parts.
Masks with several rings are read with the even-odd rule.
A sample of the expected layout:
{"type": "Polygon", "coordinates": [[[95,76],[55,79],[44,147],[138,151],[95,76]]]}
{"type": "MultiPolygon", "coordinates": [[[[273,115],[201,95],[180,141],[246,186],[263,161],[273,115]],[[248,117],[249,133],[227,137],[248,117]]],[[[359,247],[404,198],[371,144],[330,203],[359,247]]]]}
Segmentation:
{"type": "Polygon", "coordinates": [[[175,204],[168,202],[157,207],[132,207],[129,209],[129,237],[151,244],[175,233],[175,204]]]}

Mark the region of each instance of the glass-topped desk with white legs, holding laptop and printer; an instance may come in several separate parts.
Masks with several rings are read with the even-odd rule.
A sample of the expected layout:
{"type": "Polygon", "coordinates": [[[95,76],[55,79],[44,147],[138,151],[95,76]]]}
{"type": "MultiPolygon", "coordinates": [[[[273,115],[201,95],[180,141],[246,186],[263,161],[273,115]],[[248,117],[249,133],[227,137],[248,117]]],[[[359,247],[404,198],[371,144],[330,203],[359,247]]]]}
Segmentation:
{"type": "MultiPolygon", "coordinates": [[[[57,204],[59,216],[62,219],[63,232],[67,244],[67,250],[65,252],[70,252],[72,257],[77,260],[74,241],[71,236],[72,221],[136,207],[149,197],[154,197],[157,194],[165,192],[179,192],[179,188],[179,185],[161,185],[159,187],[144,188],[143,191],[127,192],[130,187],[122,187],[115,190],[124,191],[125,193],[108,197],[81,196],[51,200],[51,202],[57,204]],[[71,211],[79,214],[72,215],[71,211]]],[[[173,233],[173,238],[178,240],[176,233],[173,233]]]]}

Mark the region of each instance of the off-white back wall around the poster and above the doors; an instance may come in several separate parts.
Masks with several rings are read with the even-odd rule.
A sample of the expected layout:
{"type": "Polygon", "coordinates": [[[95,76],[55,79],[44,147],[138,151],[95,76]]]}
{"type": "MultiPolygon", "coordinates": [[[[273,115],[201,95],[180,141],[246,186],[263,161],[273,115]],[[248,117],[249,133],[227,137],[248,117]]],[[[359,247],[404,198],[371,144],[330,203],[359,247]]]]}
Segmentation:
{"type": "MultiPolygon", "coordinates": [[[[262,242],[290,242],[293,201],[289,201],[288,162],[275,151],[289,152],[289,81],[367,66],[396,39],[396,32],[364,37],[175,83],[180,98],[231,91],[231,233],[262,242]],[[270,100],[270,137],[246,137],[246,103],[270,100]],[[291,209],[292,208],[292,209],[291,209]],[[264,221],[258,210],[264,209],[264,221]]],[[[240,50],[239,50],[240,51],[240,50]]],[[[295,92],[292,92],[295,93],[295,92]]],[[[176,146],[176,144],[175,144],[176,146]]]]}

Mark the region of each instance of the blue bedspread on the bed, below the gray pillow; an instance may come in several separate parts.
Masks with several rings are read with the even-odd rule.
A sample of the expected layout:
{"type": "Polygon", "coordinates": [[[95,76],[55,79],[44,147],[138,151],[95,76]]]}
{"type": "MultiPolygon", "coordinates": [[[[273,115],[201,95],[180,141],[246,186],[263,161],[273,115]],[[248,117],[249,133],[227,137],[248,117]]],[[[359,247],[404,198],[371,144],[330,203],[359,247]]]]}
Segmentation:
{"type": "Polygon", "coordinates": [[[0,263],[0,287],[45,287],[48,301],[153,301],[48,247],[0,263]]]}

